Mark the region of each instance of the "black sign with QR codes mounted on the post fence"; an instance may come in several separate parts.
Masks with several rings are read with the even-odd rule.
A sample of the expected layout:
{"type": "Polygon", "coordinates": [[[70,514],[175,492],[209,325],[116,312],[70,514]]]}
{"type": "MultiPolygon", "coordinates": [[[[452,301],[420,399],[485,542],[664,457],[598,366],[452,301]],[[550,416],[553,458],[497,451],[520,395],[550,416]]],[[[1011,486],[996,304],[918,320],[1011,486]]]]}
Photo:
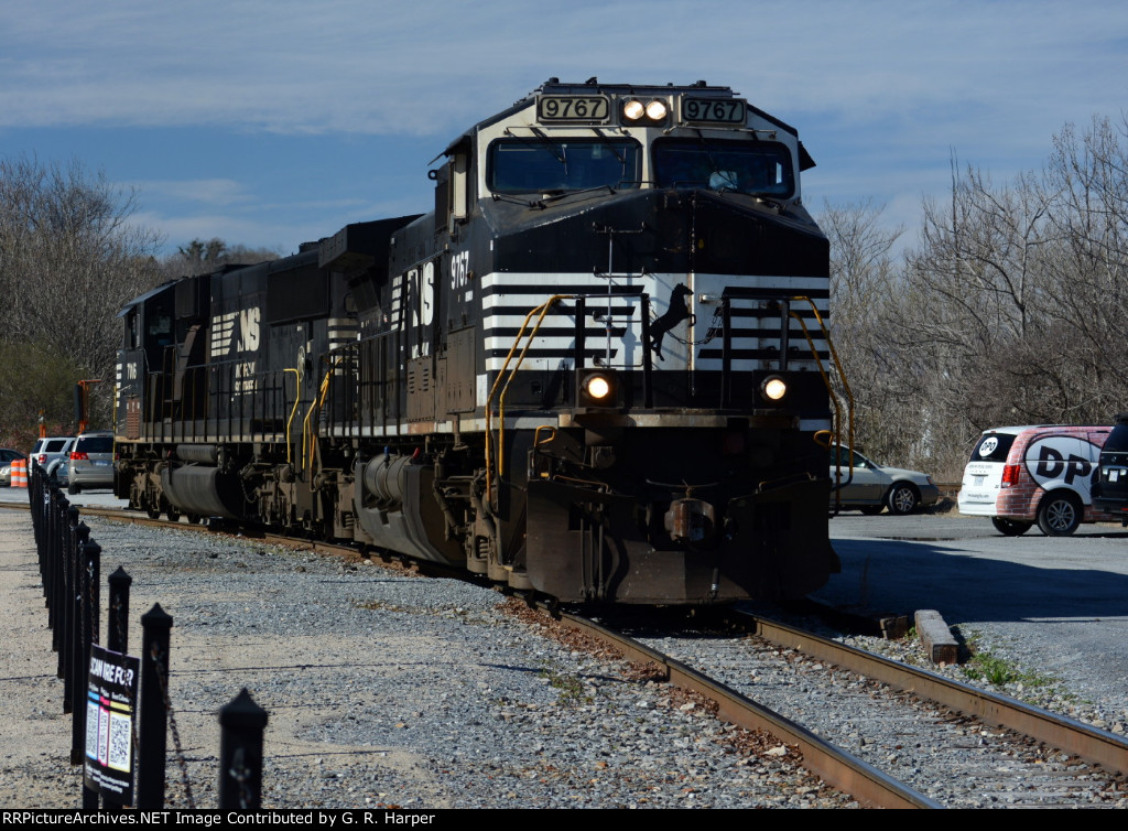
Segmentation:
{"type": "Polygon", "coordinates": [[[141,661],[90,647],[86,697],[86,787],[118,805],[133,804],[135,712],[141,661]]]}

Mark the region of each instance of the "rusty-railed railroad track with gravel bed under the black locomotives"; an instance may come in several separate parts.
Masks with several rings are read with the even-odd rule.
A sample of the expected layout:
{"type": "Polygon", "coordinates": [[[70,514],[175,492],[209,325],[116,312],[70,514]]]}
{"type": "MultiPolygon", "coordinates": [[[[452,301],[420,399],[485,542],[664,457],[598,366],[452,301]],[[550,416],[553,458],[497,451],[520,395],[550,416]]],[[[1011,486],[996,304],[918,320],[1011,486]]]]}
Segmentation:
{"type": "MultiPolygon", "coordinates": [[[[135,511],[83,508],[83,513],[167,525],[135,511]]],[[[183,523],[178,526],[184,527],[183,523]]],[[[358,556],[352,546],[285,542],[301,542],[324,553],[358,556]]],[[[563,621],[608,642],[629,659],[661,667],[672,684],[713,701],[720,718],[766,731],[797,747],[808,770],[863,804],[1089,807],[1123,805],[1128,799],[1128,743],[1123,740],[791,626],[748,616],[740,623],[743,631],[734,637],[711,632],[712,657],[704,662],[707,668],[698,671],[689,666],[703,663],[698,656],[682,661],[678,655],[700,651],[686,649],[686,644],[700,641],[699,631],[686,637],[655,633],[651,627],[643,642],[576,615],[564,615],[563,621]],[[812,674],[829,680],[805,680],[812,674]],[[816,689],[823,685],[830,692],[816,689]],[[880,693],[875,685],[881,685],[880,693]],[[906,694],[895,696],[893,690],[906,694]],[[765,701],[766,692],[774,694],[765,701]],[[845,718],[835,724],[829,717],[837,708],[820,703],[827,697],[835,705],[853,698],[869,706],[880,699],[883,706],[901,712],[860,717],[858,706],[851,705],[845,718]],[[933,703],[923,705],[922,699],[933,703]],[[812,721],[812,712],[822,718],[812,721]],[[858,721],[866,726],[856,727],[858,721]],[[891,738],[882,738],[882,734],[891,738]],[[828,737],[853,746],[843,750],[828,737]],[[928,759],[922,761],[923,755],[928,759]]]]}

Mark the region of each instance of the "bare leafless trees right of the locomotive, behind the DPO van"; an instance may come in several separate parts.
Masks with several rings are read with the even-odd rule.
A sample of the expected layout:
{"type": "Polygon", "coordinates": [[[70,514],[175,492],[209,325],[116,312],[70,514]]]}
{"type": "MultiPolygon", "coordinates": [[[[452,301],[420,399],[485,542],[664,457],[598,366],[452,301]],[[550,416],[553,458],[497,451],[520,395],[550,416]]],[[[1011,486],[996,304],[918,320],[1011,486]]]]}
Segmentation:
{"type": "Polygon", "coordinates": [[[1128,119],[1064,128],[1041,170],[994,183],[951,161],[917,243],[866,202],[819,217],[856,443],[958,481],[1004,425],[1128,410],[1128,119]]]}

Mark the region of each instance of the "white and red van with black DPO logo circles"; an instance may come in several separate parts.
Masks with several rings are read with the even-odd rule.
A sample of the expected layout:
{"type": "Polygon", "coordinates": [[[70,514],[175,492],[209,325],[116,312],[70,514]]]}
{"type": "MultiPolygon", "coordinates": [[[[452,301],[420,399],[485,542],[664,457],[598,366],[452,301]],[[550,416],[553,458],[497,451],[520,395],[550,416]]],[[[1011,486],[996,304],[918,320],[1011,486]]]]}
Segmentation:
{"type": "Polygon", "coordinates": [[[989,516],[1007,536],[1034,523],[1047,536],[1068,536],[1081,523],[1112,519],[1093,507],[1091,480],[1108,426],[1030,425],[985,430],[971,449],[960,487],[960,513],[989,516]]]}

